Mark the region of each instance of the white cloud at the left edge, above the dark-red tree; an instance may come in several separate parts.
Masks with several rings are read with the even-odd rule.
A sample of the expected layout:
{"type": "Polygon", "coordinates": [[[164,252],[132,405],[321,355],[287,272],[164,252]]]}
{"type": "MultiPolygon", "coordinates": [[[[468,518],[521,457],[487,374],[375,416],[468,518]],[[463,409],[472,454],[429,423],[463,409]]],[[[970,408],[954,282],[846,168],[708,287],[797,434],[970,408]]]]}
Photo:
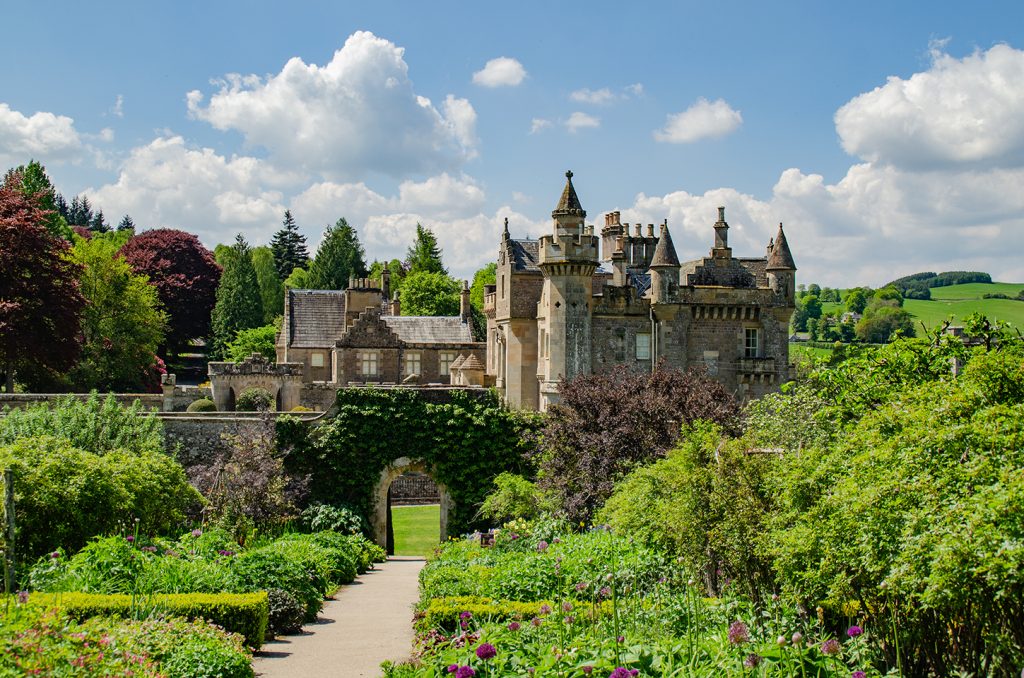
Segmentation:
{"type": "Polygon", "coordinates": [[[37,112],[26,116],[0,103],[0,163],[23,165],[32,159],[44,162],[78,160],[84,145],[67,116],[37,112]]]}

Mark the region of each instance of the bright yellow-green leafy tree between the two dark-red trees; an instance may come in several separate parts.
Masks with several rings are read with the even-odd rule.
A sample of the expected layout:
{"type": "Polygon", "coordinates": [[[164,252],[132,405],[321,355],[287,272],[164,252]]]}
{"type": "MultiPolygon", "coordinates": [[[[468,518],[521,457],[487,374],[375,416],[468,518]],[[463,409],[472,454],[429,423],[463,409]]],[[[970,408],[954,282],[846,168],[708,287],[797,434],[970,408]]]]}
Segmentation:
{"type": "Polygon", "coordinates": [[[75,242],[72,257],[82,265],[82,358],[71,372],[79,390],[137,391],[159,387],[157,349],[164,341],[167,313],[157,288],[119,256],[116,234],[75,242]]]}

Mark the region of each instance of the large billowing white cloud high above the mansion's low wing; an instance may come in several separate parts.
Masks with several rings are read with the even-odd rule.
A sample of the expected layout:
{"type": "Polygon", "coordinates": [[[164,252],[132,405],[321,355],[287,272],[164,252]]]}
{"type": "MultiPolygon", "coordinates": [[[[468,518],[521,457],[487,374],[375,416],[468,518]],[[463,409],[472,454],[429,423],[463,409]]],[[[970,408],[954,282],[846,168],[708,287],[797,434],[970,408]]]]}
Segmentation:
{"type": "Polygon", "coordinates": [[[353,33],[325,66],[293,57],[265,78],[228,75],[205,103],[188,92],[189,115],[237,130],[295,170],[348,178],[453,169],[476,151],[476,113],[449,95],[439,111],[417,94],[404,50],[353,33]]]}

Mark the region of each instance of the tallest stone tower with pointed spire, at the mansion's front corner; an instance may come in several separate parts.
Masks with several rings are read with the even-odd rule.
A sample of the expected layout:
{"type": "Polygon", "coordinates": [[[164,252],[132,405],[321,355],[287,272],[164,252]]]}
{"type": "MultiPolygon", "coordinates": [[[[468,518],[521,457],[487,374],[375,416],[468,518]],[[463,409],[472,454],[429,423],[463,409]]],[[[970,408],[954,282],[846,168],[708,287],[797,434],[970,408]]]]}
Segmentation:
{"type": "Polygon", "coordinates": [[[585,226],[587,212],[565,173],[565,187],[551,212],[554,234],[541,237],[540,260],[544,291],[538,304],[542,329],[538,370],[541,409],[558,401],[558,382],[590,372],[593,278],[598,266],[599,239],[585,226]],[[550,347],[550,348],[549,348],[550,347]]]}

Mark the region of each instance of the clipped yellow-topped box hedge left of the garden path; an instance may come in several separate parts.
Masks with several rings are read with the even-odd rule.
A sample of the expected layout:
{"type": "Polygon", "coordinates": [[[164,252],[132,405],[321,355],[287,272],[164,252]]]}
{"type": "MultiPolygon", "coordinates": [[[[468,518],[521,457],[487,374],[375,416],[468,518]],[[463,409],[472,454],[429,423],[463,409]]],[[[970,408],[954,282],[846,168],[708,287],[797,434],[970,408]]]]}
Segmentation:
{"type": "Polygon", "coordinates": [[[164,593],[151,596],[98,593],[32,593],[29,604],[58,607],[82,622],[90,617],[138,619],[152,613],[203,619],[241,634],[246,644],[259,649],[266,633],[269,605],[265,591],[258,593],[164,593]]]}

